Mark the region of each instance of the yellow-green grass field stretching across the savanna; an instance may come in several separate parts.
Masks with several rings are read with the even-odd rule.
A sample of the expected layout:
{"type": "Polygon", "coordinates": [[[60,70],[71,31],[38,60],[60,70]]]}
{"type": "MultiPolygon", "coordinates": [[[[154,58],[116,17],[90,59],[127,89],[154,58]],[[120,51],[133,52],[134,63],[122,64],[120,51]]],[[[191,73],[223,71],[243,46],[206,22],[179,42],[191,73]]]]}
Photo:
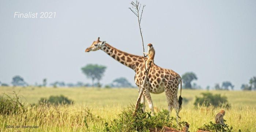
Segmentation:
{"type": "MultiPolygon", "coordinates": [[[[41,97],[63,94],[72,99],[72,106],[49,108],[29,107],[25,113],[0,115],[0,131],[96,131],[102,129],[104,123],[95,119],[88,122],[89,129],[84,127],[84,115],[89,109],[95,117],[109,122],[130,103],[135,103],[138,97],[137,89],[93,89],[93,88],[12,88],[0,87],[0,92],[12,94],[16,91],[22,102],[27,105],[38,103],[41,97]],[[93,125],[94,124],[94,125],[93,125]],[[96,124],[96,125],[95,125],[96,124]],[[6,125],[37,125],[38,129],[5,128],[6,125]],[[92,127],[94,126],[94,127],[92,127]]],[[[182,97],[187,98],[180,112],[181,120],[190,124],[189,131],[195,132],[204,123],[214,121],[215,114],[221,108],[199,108],[193,105],[195,96],[200,96],[203,90],[182,90],[182,97]]],[[[227,96],[231,109],[225,109],[227,124],[233,126],[234,131],[256,131],[256,92],[248,91],[210,91],[227,96]]],[[[155,111],[167,109],[165,94],[151,94],[155,111]]],[[[146,103],[147,106],[147,103],[146,103]]],[[[146,107],[148,110],[148,107],[146,107]]],[[[174,110],[172,116],[175,116],[174,110]]]]}

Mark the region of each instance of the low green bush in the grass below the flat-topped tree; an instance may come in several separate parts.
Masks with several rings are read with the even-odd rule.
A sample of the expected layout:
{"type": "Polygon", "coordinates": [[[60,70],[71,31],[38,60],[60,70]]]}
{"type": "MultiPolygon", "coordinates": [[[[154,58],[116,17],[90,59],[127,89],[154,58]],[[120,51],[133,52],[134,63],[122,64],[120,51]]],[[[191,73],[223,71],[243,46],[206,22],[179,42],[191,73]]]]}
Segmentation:
{"type": "Polygon", "coordinates": [[[50,96],[47,98],[41,98],[39,104],[48,104],[48,105],[71,105],[74,104],[74,101],[69,100],[67,97],[60,96],[50,96]]]}

